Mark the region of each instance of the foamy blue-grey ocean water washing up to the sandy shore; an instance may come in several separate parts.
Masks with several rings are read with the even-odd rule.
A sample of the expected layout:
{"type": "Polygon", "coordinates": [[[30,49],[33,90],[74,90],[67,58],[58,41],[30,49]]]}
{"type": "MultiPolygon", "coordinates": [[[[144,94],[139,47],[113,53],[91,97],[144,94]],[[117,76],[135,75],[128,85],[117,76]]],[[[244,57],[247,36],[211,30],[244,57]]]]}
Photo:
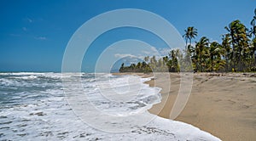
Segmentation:
{"type": "Polygon", "coordinates": [[[0,73],[0,140],[219,140],[148,113],[150,78],[90,73],[0,73]]]}

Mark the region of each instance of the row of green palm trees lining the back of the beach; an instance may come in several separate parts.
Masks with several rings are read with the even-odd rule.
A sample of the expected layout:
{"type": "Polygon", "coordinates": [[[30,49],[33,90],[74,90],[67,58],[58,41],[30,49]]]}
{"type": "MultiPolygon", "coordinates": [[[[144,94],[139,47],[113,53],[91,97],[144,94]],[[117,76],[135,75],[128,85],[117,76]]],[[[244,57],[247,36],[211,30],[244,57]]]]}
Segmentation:
{"type": "Polygon", "coordinates": [[[222,42],[210,42],[207,37],[201,37],[195,45],[192,44],[192,39],[197,37],[198,32],[195,27],[190,26],[184,30],[184,50],[172,49],[168,56],[160,59],[147,56],[137,65],[122,64],[119,72],[256,71],[256,8],[250,25],[252,27],[247,29],[240,20],[234,20],[224,27],[227,33],[222,35],[222,42]]]}

